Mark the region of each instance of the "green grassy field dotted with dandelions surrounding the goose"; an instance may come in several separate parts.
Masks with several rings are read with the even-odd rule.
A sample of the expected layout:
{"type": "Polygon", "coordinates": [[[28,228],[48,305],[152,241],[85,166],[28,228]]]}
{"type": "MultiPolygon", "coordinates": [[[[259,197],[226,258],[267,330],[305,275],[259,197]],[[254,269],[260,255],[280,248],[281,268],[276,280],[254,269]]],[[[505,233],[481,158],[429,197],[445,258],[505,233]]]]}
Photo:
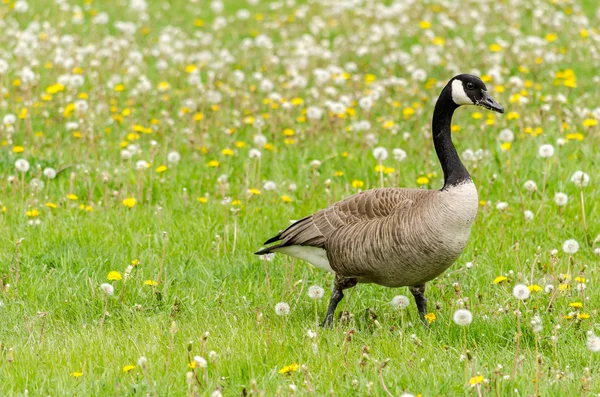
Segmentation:
{"type": "Polygon", "coordinates": [[[0,5],[0,395],[600,394],[593,2],[60,4],[0,5]],[[319,329],[332,275],[253,252],[441,187],[430,119],[465,72],[506,113],[455,114],[480,211],[430,328],[359,285],[319,329]]]}

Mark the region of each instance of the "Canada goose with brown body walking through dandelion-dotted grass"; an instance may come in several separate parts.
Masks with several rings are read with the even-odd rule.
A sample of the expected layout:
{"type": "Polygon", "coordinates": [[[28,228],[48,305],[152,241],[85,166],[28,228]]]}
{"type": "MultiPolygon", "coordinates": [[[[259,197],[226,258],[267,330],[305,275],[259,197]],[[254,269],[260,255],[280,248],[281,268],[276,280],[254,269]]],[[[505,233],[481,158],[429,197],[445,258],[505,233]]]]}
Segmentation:
{"type": "Polygon", "coordinates": [[[290,225],[257,255],[271,252],[335,273],[323,321],[328,326],[343,290],[357,283],[410,287],[425,320],[425,283],[460,256],[477,215],[475,184],[452,143],[452,114],[462,105],[504,113],[480,78],[461,74],[442,90],[433,111],[432,136],[444,171],[441,190],[382,188],[360,192],[290,225]]]}

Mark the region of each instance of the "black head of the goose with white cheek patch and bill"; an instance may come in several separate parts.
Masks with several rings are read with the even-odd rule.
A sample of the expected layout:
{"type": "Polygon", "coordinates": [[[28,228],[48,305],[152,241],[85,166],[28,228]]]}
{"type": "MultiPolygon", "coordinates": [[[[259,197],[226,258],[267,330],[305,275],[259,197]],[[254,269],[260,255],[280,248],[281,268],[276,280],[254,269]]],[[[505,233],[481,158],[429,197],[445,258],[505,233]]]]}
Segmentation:
{"type": "Polygon", "coordinates": [[[450,80],[452,100],[458,106],[477,105],[498,113],[504,108],[490,96],[485,83],[472,74],[460,74],[450,80]]]}

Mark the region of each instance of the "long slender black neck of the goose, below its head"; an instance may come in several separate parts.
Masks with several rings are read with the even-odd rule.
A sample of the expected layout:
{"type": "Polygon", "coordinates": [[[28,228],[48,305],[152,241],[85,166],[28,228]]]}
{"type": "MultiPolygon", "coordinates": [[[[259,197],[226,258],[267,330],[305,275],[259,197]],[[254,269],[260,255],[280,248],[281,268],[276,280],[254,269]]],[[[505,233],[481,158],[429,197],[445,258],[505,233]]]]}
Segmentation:
{"type": "Polygon", "coordinates": [[[452,100],[450,88],[444,88],[435,104],[431,126],[435,152],[444,171],[444,187],[442,190],[471,179],[452,144],[450,127],[452,114],[456,108],[458,106],[452,100]]]}

